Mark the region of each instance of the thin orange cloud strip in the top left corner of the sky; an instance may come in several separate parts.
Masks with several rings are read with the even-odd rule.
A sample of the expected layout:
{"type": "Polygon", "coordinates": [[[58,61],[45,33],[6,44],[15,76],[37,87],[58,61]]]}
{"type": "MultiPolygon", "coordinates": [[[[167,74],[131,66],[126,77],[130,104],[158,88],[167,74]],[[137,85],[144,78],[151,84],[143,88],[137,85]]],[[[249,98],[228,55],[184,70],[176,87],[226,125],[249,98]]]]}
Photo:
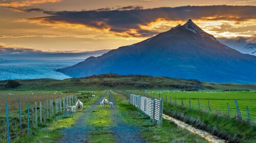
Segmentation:
{"type": "Polygon", "coordinates": [[[43,4],[43,3],[57,3],[61,0],[26,0],[22,2],[10,2],[10,3],[0,3],[0,6],[2,7],[25,7],[25,6],[33,6],[36,4],[43,4]]]}

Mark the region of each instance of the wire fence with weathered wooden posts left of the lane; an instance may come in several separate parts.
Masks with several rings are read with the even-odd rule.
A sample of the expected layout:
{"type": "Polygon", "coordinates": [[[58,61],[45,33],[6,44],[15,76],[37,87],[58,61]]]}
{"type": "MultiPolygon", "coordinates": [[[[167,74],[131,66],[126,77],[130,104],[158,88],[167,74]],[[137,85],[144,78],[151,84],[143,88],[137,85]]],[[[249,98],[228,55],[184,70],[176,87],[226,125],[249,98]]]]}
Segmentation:
{"type": "Polygon", "coordinates": [[[77,95],[66,95],[23,103],[23,106],[20,100],[7,102],[5,112],[0,112],[0,142],[17,142],[24,134],[32,134],[34,127],[49,122],[66,111],[67,104],[74,105],[76,101],[77,95]]]}

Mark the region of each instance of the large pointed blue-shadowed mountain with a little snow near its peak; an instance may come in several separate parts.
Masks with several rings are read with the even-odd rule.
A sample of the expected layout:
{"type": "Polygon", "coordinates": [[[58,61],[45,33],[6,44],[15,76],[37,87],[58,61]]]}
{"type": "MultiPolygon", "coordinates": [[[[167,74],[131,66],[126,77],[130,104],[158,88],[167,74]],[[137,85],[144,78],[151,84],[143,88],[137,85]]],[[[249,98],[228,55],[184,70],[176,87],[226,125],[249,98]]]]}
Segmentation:
{"type": "Polygon", "coordinates": [[[152,38],[56,71],[72,77],[116,73],[256,83],[256,56],[223,45],[189,19],[152,38]]]}

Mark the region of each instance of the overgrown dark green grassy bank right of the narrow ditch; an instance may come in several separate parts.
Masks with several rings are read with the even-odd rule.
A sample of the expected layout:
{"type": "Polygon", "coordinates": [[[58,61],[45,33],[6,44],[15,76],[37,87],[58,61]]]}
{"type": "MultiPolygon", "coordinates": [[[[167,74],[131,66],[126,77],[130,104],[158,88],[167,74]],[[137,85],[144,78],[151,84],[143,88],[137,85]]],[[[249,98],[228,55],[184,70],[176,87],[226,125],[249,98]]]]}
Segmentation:
{"type": "Polygon", "coordinates": [[[229,142],[255,142],[256,126],[218,114],[165,103],[163,112],[229,142]]]}

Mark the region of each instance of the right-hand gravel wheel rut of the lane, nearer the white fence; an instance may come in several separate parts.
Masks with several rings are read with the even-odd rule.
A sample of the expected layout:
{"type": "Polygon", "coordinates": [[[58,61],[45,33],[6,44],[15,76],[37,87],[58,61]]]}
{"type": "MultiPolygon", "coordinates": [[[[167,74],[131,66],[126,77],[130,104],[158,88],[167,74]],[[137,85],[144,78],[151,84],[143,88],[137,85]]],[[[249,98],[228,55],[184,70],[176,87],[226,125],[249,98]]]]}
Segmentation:
{"type": "Polygon", "coordinates": [[[117,142],[122,143],[144,143],[145,140],[142,139],[139,133],[139,128],[124,123],[120,115],[118,113],[118,109],[116,107],[116,102],[113,98],[112,93],[110,92],[110,101],[113,102],[114,106],[111,111],[112,120],[114,122],[113,128],[111,129],[115,135],[117,142]]]}

